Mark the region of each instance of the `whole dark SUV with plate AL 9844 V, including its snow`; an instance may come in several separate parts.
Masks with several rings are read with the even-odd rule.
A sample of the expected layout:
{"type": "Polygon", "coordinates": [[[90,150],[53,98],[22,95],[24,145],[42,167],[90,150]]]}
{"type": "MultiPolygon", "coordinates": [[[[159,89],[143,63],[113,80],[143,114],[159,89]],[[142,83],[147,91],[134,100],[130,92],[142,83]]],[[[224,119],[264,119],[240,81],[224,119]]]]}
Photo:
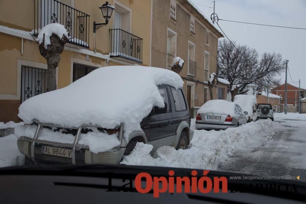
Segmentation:
{"type": "MultiPolygon", "coordinates": [[[[28,103],[25,101],[21,104],[19,115],[25,122],[33,121],[37,129],[35,133],[34,127],[35,134],[18,139],[18,149],[26,156],[26,163],[68,164],[119,164],[123,156],[132,152],[137,142],[151,144],[151,154],[162,146],[187,149],[193,137],[188,103],[181,88],[170,86],[177,85],[179,80],[181,77],[175,72],[160,68],[114,66],[96,69],[68,87],[37,95],[28,99],[28,103]],[[109,76],[116,76],[116,84],[107,86],[113,81],[109,76]],[[142,80],[139,80],[139,76],[142,80]],[[155,84],[156,81],[159,84],[155,84]],[[166,82],[168,84],[163,84],[166,82]],[[86,97],[89,98],[81,100],[79,97],[80,101],[72,98],[77,98],[76,93],[82,92],[77,89],[86,90],[86,97]],[[103,94],[97,95],[99,91],[103,94]],[[49,107],[45,107],[46,114],[42,111],[36,113],[36,110],[28,112],[28,109],[40,108],[33,105],[35,103],[47,103],[50,95],[53,101],[49,107]],[[164,107],[151,106],[150,102],[156,104],[152,103],[154,100],[159,100],[159,104],[163,100],[164,107]],[[82,109],[78,108],[82,106],[82,109]],[[115,107],[110,108],[112,106],[115,107]],[[143,116],[150,108],[151,113],[143,116]],[[73,117],[69,114],[73,114],[73,117]],[[121,124],[110,128],[110,125],[118,124],[116,120],[121,124]],[[95,121],[107,125],[96,125],[95,121]],[[99,151],[103,145],[112,146],[99,151]]],[[[182,87],[183,81],[178,84],[182,87]]],[[[27,134],[27,131],[22,133],[27,134]]]]}

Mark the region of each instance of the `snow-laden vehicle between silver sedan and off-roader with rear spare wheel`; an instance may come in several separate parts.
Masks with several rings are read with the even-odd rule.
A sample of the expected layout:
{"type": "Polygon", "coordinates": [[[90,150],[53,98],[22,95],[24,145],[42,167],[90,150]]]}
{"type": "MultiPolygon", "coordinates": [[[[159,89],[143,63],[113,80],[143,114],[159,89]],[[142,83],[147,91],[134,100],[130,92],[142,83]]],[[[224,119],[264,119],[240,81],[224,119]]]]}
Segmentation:
{"type": "Polygon", "coordinates": [[[245,114],[248,119],[248,123],[257,120],[256,96],[239,94],[235,96],[234,103],[239,105],[244,111],[248,112],[248,114],[245,114]]]}

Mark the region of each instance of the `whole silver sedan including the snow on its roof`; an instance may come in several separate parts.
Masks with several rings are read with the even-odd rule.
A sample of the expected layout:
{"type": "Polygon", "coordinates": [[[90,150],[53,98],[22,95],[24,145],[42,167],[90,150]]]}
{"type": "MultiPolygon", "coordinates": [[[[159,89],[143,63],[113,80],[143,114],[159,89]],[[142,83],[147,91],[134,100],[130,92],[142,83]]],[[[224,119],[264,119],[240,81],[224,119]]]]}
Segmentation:
{"type": "Polygon", "coordinates": [[[234,102],[210,100],[204,103],[196,115],[197,129],[226,129],[247,123],[247,111],[234,102]]]}

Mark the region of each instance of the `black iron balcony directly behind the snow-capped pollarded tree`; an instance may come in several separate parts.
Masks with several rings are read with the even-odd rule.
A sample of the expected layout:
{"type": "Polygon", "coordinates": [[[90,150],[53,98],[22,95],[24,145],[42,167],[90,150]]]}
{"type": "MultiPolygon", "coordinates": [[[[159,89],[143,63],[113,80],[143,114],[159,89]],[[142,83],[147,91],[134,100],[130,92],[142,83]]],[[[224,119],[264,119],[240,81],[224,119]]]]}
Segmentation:
{"type": "Polygon", "coordinates": [[[69,36],[67,46],[89,48],[89,15],[56,0],[34,0],[34,36],[44,26],[59,23],[69,36]]]}

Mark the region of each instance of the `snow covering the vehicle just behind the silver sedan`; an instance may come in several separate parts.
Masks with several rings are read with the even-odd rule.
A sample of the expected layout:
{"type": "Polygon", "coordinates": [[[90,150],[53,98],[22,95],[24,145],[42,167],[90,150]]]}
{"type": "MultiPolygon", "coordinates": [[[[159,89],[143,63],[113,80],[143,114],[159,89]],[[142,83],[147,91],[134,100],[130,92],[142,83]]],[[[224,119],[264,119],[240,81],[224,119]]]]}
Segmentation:
{"type": "Polygon", "coordinates": [[[253,95],[235,95],[234,103],[239,105],[243,111],[247,111],[247,116],[253,114],[254,104],[257,103],[256,96],[253,95]]]}

